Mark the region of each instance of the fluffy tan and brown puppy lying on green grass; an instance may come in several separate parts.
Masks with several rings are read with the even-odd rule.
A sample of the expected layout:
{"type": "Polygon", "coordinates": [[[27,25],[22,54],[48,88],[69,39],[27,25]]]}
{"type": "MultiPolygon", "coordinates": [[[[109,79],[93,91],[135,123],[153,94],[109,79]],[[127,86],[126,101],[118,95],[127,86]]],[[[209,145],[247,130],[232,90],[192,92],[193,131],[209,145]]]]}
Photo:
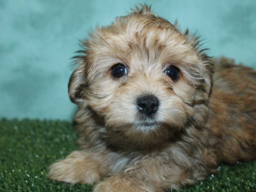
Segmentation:
{"type": "Polygon", "coordinates": [[[163,192],[221,162],[256,159],[252,69],[210,60],[198,37],[146,5],[82,45],[68,85],[81,149],[50,166],[49,178],[96,182],[94,192],[163,192]]]}

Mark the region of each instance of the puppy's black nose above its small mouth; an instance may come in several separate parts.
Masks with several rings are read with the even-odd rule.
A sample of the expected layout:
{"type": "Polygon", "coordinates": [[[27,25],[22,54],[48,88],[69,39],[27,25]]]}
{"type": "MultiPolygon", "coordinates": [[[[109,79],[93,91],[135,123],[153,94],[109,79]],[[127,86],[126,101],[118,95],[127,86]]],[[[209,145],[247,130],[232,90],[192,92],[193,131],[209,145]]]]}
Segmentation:
{"type": "Polygon", "coordinates": [[[151,115],[157,111],[159,100],[155,96],[140,96],[137,98],[137,105],[141,113],[151,115]]]}

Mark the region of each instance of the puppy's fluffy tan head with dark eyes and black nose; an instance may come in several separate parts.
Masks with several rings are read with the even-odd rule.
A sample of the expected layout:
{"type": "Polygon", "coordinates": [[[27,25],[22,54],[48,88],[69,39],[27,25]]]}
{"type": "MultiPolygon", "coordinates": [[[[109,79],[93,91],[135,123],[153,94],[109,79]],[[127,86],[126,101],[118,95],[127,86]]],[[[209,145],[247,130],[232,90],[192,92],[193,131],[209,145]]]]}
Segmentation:
{"type": "Polygon", "coordinates": [[[198,44],[148,6],[136,8],[83,42],[70,99],[104,119],[100,131],[111,143],[145,147],[175,139],[207,115],[212,70],[198,44]]]}

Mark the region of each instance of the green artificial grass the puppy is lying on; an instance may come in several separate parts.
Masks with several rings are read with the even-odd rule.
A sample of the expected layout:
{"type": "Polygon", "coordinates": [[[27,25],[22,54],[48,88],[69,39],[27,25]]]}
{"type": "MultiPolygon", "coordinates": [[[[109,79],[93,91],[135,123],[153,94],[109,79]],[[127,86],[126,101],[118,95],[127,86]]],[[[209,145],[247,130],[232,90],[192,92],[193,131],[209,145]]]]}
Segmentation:
{"type": "MultiPolygon", "coordinates": [[[[90,185],[47,179],[48,166],[77,149],[66,121],[0,120],[0,192],[91,192],[90,185]]],[[[217,174],[184,192],[256,192],[256,161],[221,165],[217,174]]]]}

